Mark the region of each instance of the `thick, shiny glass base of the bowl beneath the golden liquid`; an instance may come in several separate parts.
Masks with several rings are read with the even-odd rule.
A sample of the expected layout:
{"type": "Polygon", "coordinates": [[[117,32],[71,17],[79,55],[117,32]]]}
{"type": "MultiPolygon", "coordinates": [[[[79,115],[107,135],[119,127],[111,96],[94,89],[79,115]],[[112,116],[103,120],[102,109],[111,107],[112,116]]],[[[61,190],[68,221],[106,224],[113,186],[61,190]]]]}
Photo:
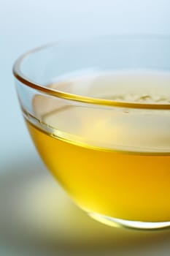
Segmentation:
{"type": "Polygon", "coordinates": [[[105,225],[109,225],[111,227],[127,227],[139,230],[158,230],[170,227],[170,222],[139,222],[107,217],[96,213],[88,213],[88,215],[93,219],[96,219],[98,222],[104,223],[105,225]]]}

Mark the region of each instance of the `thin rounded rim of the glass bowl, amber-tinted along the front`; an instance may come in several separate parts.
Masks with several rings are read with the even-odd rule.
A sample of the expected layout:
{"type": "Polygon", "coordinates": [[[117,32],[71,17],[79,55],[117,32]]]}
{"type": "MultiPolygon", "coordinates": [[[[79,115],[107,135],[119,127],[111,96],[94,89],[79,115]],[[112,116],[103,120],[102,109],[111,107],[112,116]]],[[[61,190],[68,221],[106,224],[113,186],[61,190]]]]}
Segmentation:
{"type": "MultiPolygon", "coordinates": [[[[101,39],[101,38],[110,38],[108,37],[93,37],[94,39],[101,39]]],[[[157,35],[157,34],[152,34],[152,35],[112,35],[111,39],[121,39],[121,40],[146,40],[146,39],[154,39],[154,40],[169,40],[170,42],[170,35],[157,35]]],[[[90,38],[92,40],[92,38],[90,38]]],[[[57,45],[62,45],[62,44],[71,44],[71,43],[76,43],[77,42],[90,42],[89,39],[66,39],[66,40],[61,40],[58,42],[53,42],[53,43],[48,43],[46,45],[39,46],[37,48],[34,48],[32,50],[28,50],[26,53],[21,55],[14,63],[12,67],[12,72],[13,75],[17,80],[19,80],[21,83],[24,85],[30,87],[31,89],[36,89],[37,91],[40,91],[44,94],[49,94],[50,96],[53,97],[58,97],[61,99],[68,99],[71,101],[75,102],[82,102],[82,103],[87,103],[87,104],[93,104],[93,105],[103,105],[103,106],[109,106],[109,107],[120,107],[120,108],[139,108],[139,109],[151,109],[151,110],[170,110],[170,103],[168,104],[159,104],[159,103],[144,103],[144,102],[122,102],[122,101],[116,101],[112,99],[101,99],[101,98],[94,98],[94,97],[86,97],[86,96],[81,96],[79,94],[70,94],[64,91],[58,91],[57,89],[51,89],[49,87],[42,86],[40,83],[36,83],[29,78],[26,77],[26,75],[23,74],[21,71],[21,66],[23,64],[24,59],[26,59],[28,56],[33,55],[37,51],[44,50],[46,48],[52,48],[56,47],[57,45]]],[[[169,44],[170,45],[170,44],[169,44]]],[[[170,72],[170,70],[169,70],[170,72]]]]}

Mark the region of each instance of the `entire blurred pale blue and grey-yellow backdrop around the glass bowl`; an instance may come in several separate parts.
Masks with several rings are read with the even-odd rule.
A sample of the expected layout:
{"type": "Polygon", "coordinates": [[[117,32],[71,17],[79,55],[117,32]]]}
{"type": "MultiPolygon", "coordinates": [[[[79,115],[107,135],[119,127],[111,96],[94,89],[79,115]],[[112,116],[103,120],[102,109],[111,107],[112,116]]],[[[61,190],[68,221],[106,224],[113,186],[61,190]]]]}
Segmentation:
{"type": "Polygon", "coordinates": [[[12,77],[21,53],[58,39],[170,34],[169,7],[168,0],[1,2],[0,255],[170,255],[168,230],[112,229],[72,204],[28,137],[12,77]]]}

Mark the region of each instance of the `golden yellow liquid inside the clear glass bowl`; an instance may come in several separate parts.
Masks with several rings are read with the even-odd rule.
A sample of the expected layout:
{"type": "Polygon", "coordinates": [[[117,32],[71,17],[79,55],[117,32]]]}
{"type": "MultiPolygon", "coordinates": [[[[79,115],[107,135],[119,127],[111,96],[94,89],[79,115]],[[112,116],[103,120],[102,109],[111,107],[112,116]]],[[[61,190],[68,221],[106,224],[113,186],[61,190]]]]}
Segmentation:
{"type": "MultiPolygon", "coordinates": [[[[159,79],[154,74],[142,77],[146,88],[165,80],[163,75],[159,79]]],[[[138,78],[141,75],[134,80],[131,74],[128,84],[138,78]]],[[[102,79],[107,88],[107,75],[102,79]]],[[[110,75],[109,84],[114,79],[110,75]]],[[[123,88],[122,75],[117,80],[123,88]]],[[[84,78],[81,81],[85,83],[84,78]]],[[[90,87],[94,89],[97,83],[98,79],[90,87]]],[[[137,95],[139,102],[168,100],[158,96],[158,90],[154,90],[155,96],[148,96],[140,91],[141,86],[135,95],[128,94],[128,89],[131,86],[126,95],[119,94],[120,99],[134,100],[137,95]]],[[[36,95],[34,111],[41,122],[27,121],[27,125],[45,165],[74,201],[88,213],[143,222],[170,221],[169,111],[87,108],[55,101],[36,95]]]]}

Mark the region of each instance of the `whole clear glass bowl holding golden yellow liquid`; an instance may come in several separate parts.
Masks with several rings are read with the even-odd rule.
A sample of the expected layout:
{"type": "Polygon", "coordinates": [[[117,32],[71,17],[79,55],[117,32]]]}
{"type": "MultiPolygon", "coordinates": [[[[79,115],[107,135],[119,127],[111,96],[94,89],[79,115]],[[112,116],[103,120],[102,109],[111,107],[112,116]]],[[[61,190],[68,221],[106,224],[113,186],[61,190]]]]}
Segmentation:
{"type": "Polygon", "coordinates": [[[15,62],[20,107],[42,161],[106,225],[170,226],[169,43],[58,42],[15,62]]]}

